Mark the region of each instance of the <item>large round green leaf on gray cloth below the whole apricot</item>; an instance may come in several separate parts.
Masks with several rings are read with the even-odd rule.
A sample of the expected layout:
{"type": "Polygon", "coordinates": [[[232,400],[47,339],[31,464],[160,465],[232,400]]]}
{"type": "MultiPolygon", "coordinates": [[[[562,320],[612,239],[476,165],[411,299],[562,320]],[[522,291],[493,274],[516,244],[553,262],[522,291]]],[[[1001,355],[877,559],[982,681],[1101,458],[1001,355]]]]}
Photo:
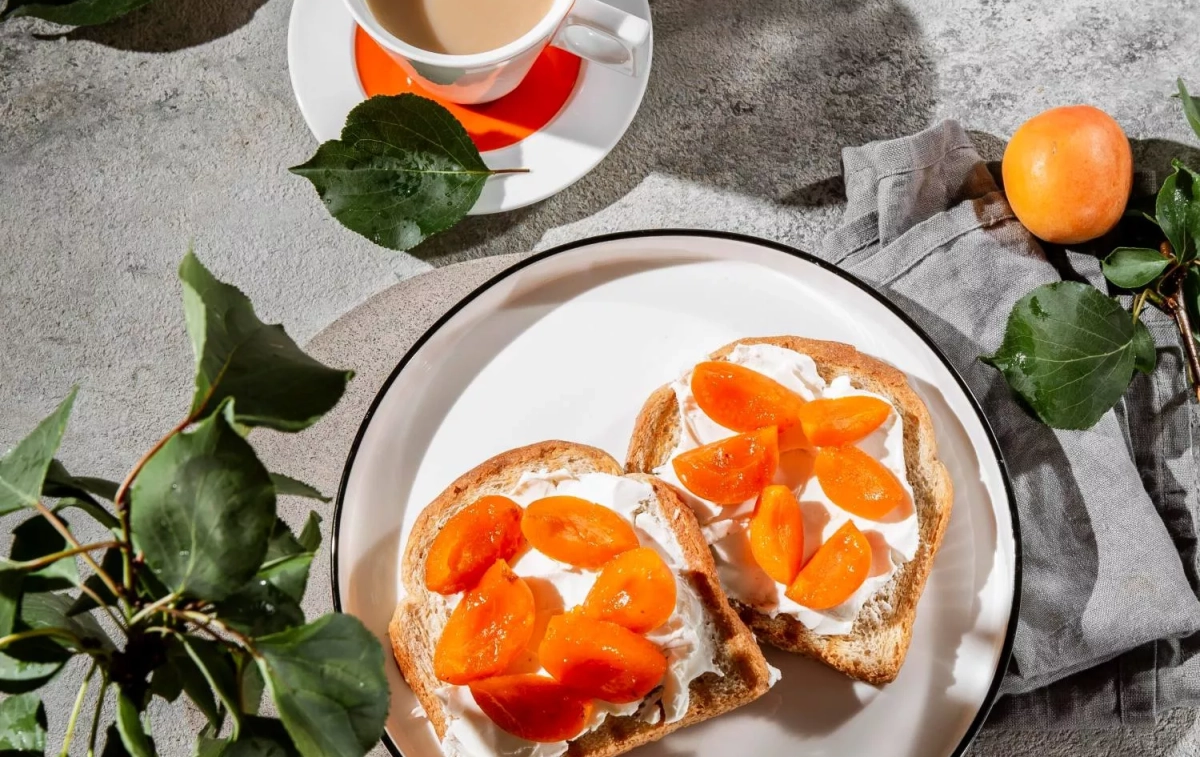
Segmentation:
{"type": "Polygon", "coordinates": [[[1058,282],[1016,302],[1000,349],[984,361],[1044,423],[1090,428],[1129,386],[1135,353],[1133,319],[1115,299],[1058,282]]]}

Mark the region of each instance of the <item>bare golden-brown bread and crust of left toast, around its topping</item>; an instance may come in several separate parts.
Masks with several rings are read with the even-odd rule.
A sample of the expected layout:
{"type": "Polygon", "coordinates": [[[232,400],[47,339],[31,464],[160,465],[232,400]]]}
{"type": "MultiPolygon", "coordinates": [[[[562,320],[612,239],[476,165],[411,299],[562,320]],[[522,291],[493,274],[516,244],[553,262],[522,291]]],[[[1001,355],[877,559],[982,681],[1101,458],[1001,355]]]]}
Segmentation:
{"type": "MultiPolygon", "coordinates": [[[[403,557],[407,596],[396,607],[388,627],[392,653],[404,680],[420,699],[438,738],[445,738],[448,714],[434,691],[442,685],[433,674],[433,648],[446,615],[434,609],[433,595],[425,588],[425,559],[442,525],[458,510],[485,494],[515,489],[521,474],[539,470],[568,470],[574,474],[624,471],[611,455],[569,441],[542,441],[503,452],[463,474],[418,517],[403,557]]],[[[686,715],[673,723],[649,723],[635,716],[608,716],[595,731],[570,741],[572,757],[611,757],[635,746],[655,741],[667,733],[707,720],[751,702],[770,686],[770,669],[754,633],[738,619],[721,590],[716,569],[700,525],[676,492],[653,476],[636,476],[654,488],[664,519],[674,531],[688,565],[686,579],[696,590],[715,631],[715,663],[722,675],[706,673],[690,686],[686,715]]]]}

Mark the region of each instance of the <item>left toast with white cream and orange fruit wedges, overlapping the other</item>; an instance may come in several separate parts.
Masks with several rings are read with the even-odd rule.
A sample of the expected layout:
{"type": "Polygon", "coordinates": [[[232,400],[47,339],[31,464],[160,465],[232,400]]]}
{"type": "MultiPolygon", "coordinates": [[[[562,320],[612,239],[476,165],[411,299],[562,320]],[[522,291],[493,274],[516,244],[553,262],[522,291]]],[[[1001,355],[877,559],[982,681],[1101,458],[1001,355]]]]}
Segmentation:
{"type": "Polygon", "coordinates": [[[448,757],[608,757],[774,683],[691,510],[610,455],[544,441],[418,517],[389,626],[448,757]]]}

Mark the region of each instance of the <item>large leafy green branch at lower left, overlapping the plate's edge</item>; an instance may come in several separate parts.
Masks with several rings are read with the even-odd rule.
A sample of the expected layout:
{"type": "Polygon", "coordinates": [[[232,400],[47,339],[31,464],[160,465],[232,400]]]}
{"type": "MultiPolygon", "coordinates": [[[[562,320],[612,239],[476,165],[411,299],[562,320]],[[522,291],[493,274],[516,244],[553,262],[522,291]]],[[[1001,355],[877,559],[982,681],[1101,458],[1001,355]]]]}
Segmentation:
{"type": "Polygon", "coordinates": [[[352,373],[260,322],[241,292],[191,253],[180,278],[196,391],[184,419],[121,483],[73,476],[54,458],[74,390],[0,458],[0,515],[32,515],[0,560],[0,692],[12,695],[0,702],[0,753],[46,752],[46,713],[32,692],[84,655],[91,665],[66,715],[62,755],[84,733],[95,755],[101,732],[106,757],[155,755],[146,708],[156,696],[182,695],[208,720],[197,737],[204,757],[362,755],[386,715],[383,650],[349,615],[306,623],[300,601],[320,518],[310,513],[296,535],[276,500],[325,498],[269,473],[246,440],[257,426],[307,428],[352,373]],[[82,543],[68,511],[112,539],[82,543]],[[122,632],[119,643],[97,612],[122,632]],[[84,701],[97,680],[89,715],[84,701]],[[278,719],[258,715],[264,690],[278,719]],[[116,720],[101,728],[110,695],[116,720]]]}

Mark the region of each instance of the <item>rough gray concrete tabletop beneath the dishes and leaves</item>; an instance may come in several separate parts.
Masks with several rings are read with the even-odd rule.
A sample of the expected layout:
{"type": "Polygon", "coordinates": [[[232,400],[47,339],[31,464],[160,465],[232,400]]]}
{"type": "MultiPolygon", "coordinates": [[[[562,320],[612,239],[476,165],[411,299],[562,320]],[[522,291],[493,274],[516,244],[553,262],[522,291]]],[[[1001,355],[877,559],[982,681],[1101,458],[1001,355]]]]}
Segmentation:
{"type": "MultiPolygon", "coordinates": [[[[992,157],[1025,118],[1070,102],[1111,113],[1139,155],[1195,144],[1169,97],[1176,76],[1200,88],[1195,0],[654,0],[649,91],[595,172],[395,254],[343,230],[286,172],[316,146],[287,76],[289,10],[157,0],[66,35],[0,26],[0,447],[74,383],[72,469],[119,477],[174,425],[191,380],[174,277],[188,244],[306,341],[397,281],[626,228],[634,209],[638,226],[815,247],[839,214],[839,149],[940,118],[979,132],[992,157]]],[[[307,609],[328,603],[313,591],[307,609]]],[[[59,733],[70,673],[47,696],[59,733]]],[[[156,717],[162,752],[190,753],[197,714],[156,717]]],[[[972,753],[1196,757],[1200,722],[985,733],[972,753]]]]}

